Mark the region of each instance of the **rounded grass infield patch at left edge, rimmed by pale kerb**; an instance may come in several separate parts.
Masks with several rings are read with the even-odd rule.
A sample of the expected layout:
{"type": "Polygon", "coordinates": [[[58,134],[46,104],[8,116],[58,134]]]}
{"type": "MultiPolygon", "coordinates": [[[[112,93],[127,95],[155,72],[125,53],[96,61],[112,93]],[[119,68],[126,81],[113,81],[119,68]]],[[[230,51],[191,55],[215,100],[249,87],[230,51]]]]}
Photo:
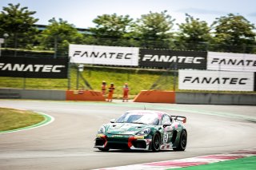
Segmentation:
{"type": "Polygon", "coordinates": [[[14,132],[46,124],[50,117],[27,110],[0,108],[0,133],[14,132]]]}

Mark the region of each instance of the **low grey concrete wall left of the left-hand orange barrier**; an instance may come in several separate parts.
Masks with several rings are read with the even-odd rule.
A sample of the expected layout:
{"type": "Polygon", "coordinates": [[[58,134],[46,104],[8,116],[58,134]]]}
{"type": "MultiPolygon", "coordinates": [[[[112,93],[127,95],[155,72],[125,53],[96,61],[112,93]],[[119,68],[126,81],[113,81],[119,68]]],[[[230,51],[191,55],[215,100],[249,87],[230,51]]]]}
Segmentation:
{"type": "Polygon", "coordinates": [[[65,101],[66,90],[50,89],[0,89],[0,98],[19,98],[65,101]]]}

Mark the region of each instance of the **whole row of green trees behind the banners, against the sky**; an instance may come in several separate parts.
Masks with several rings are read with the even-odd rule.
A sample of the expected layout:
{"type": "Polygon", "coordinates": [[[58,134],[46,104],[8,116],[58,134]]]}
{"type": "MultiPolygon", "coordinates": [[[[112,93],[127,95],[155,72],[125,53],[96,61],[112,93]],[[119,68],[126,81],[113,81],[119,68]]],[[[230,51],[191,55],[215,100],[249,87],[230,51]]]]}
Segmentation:
{"type": "Polygon", "coordinates": [[[151,12],[133,19],[129,15],[102,14],[94,18],[95,26],[86,34],[62,18],[51,18],[45,30],[35,26],[36,11],[8,4],[0,14],[0,38],[5,47],[14,49],[58,50],[67,56],[68,45],[118,45],[151,49],[210,50],[234,53],[256,53],[255,26],[239,14],[216,18],[209,25],[186,14],[177,24],[168,12],[151,12]]]}

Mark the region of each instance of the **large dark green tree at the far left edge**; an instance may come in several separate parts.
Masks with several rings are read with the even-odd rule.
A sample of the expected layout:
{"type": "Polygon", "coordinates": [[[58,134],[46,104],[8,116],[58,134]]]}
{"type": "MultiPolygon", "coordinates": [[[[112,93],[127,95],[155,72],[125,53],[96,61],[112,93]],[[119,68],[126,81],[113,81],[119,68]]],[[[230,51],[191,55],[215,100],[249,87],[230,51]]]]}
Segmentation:
{"type": "Polygon", "coordinates": [[[8,4],[3,7],[0,14],[0,34],[9,34],[8,44],[10,47],[25,47],[33,42],[37,30],[34,23],[38,22],[38,18],[32,17],[36,12],[28,10],[27,7],[8,4]]]}

